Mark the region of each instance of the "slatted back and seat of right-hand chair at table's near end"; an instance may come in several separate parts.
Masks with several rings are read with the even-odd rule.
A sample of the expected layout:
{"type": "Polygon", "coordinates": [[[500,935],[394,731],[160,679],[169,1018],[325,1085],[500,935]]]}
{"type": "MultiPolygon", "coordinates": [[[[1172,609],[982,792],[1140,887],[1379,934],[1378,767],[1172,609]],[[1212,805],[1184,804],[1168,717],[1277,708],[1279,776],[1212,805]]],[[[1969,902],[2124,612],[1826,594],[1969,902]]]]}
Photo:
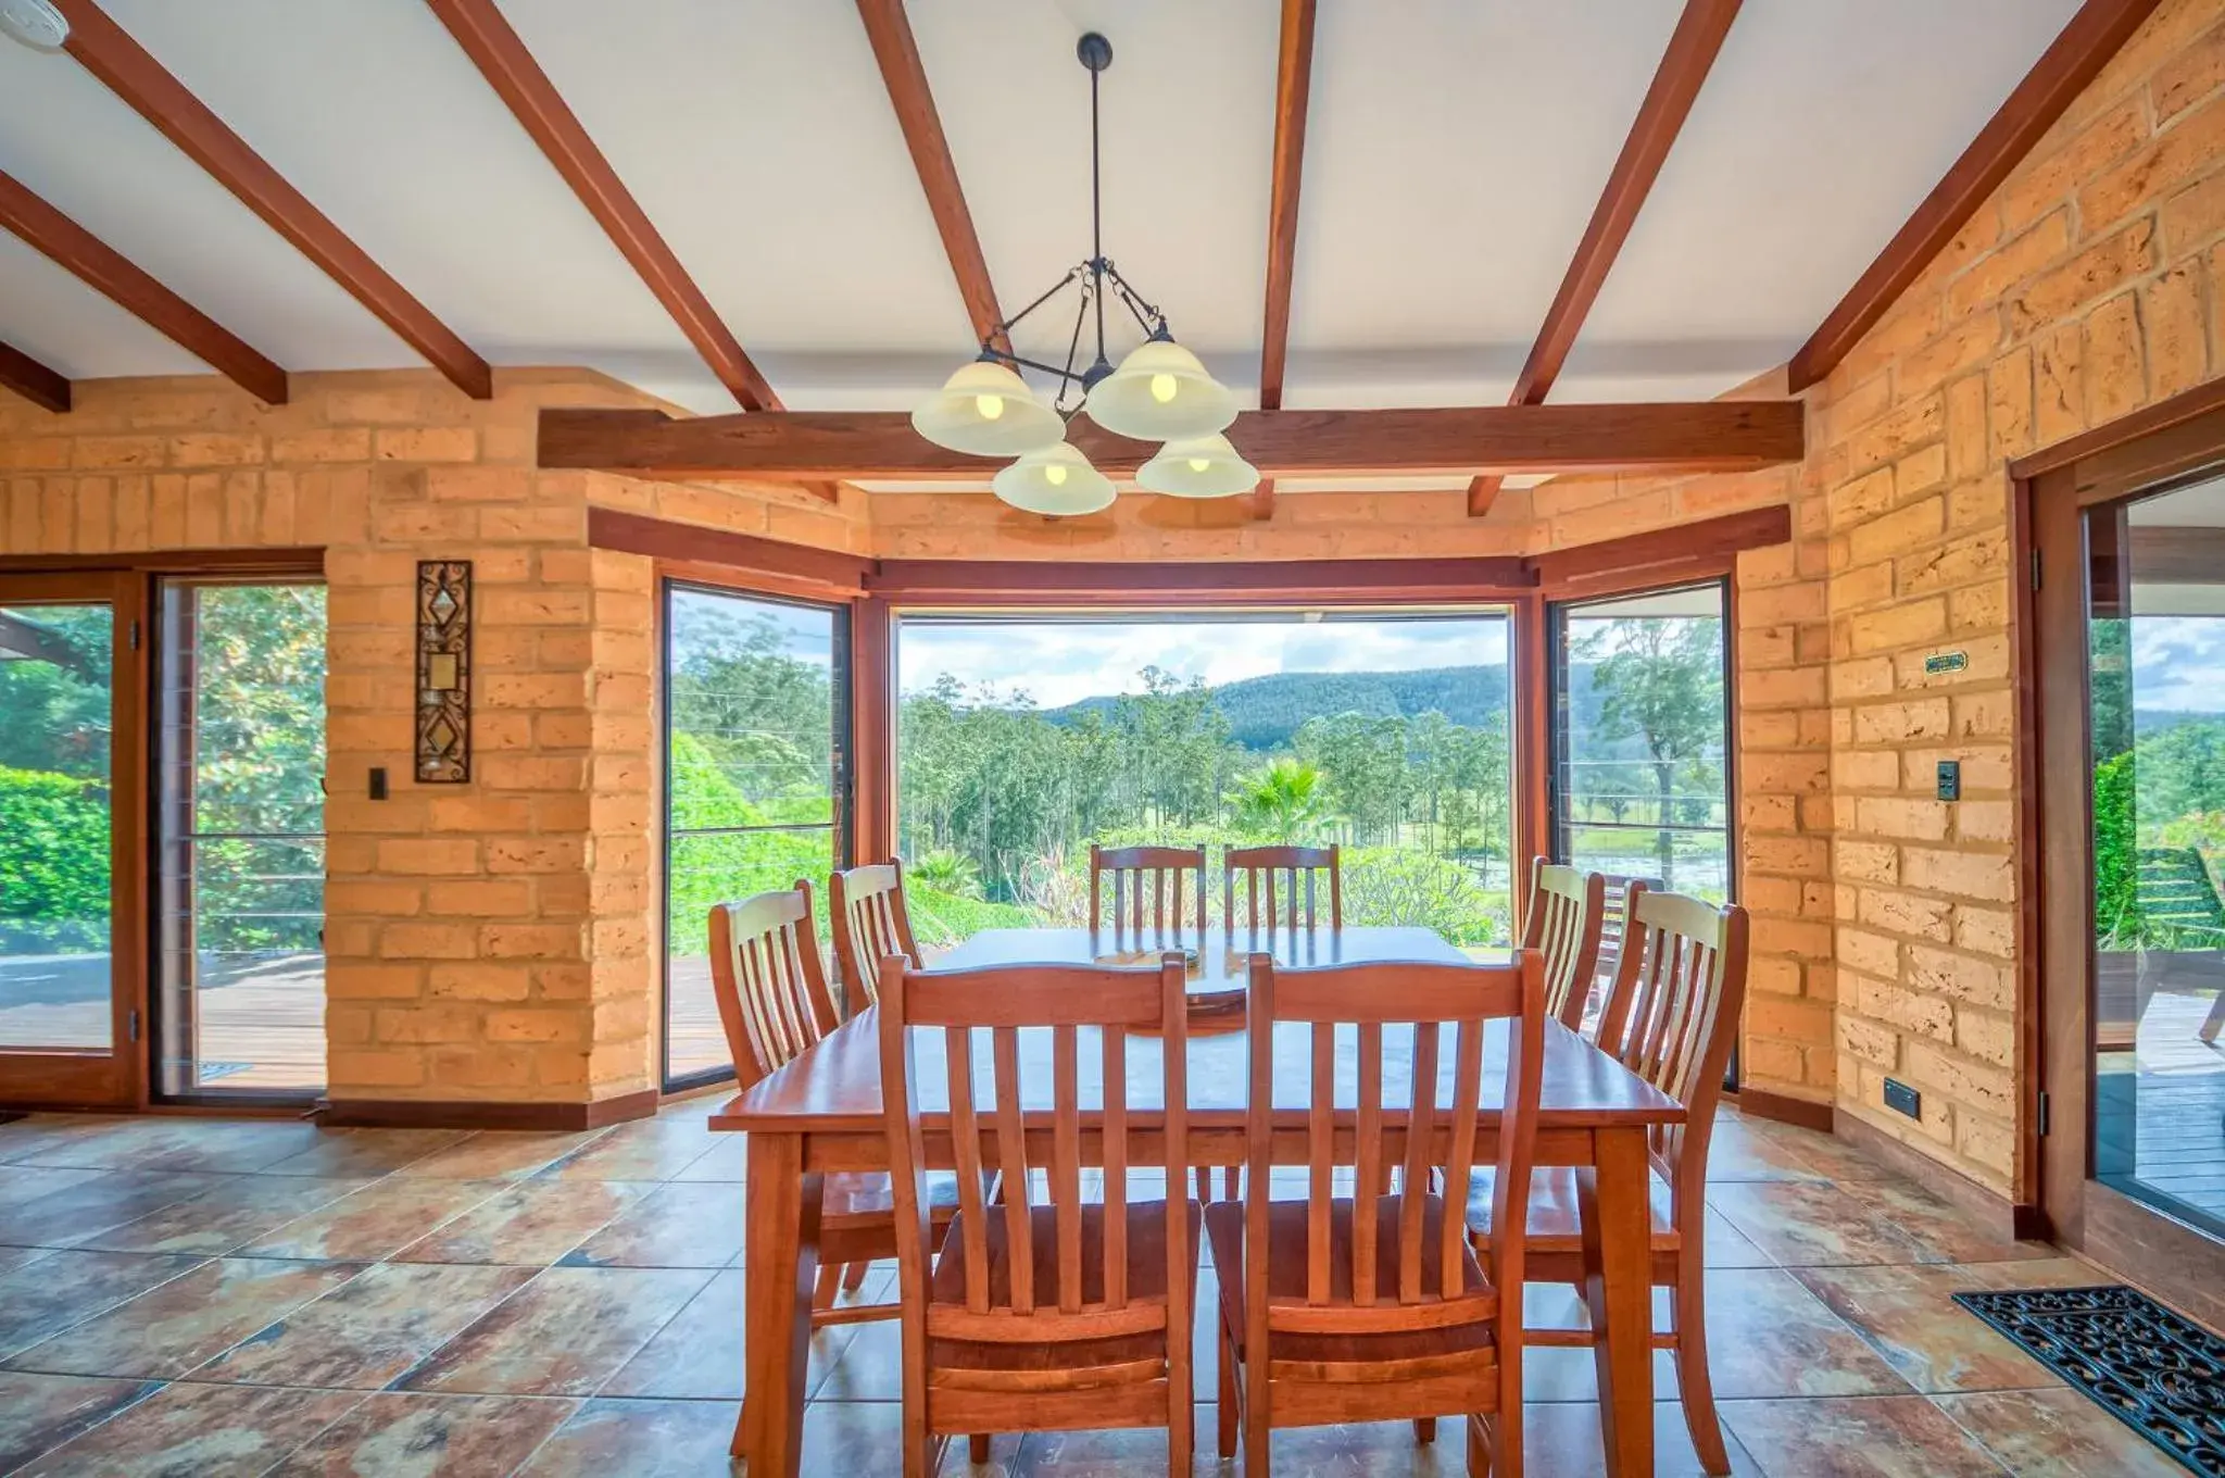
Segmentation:
{"type": "Polygon", "coordinates": [[[1493,1226],[1524,1226],[1535,1164],[1537,1091],[1544,1066],[1544,962],[1520,953],[1511,966],[1468,964],[1362,964],[1322,968],[1275,968],[1253,955],[1246,999],[1250,1035],[1250,1106],[1246,1153],[1250,1160],[1244,1206],[1246,1349],[1268,1349],[1284,1333],[1388,1333],[1493,1320],[1502,1349],[1520,1338],[1522,1238],[1493,1238],[1491,1287],[1466,1287],[1466,1204],[1475,1175],[1477,1111],[1484,1084],[1484,1024],[1506,1019],[1506,1082],[1500,1100],[1497,1178],[1493,1226]],[[1306,1289],[1270,1291],[1266,1240],[1270,1226],[1268,1164],[1273,1149],[1275,1057],[1284,1046],[1277,1022],[1306,1028],[1311,1084],[1306,1100],[1306,1289]],[[1355,1173],[1357,1204],[1335,1195],[1335,1084],[1339,1077],[1339,1026],[1351,1026],[1355,1046],[1355,1173]],[[1408,1046],[1397,1035],[1386,1064],[1384,1028],[1406,1026],[1408,1046]],[[1444,1037],[1451,1033],[1451,1097],[1440,1104],[1444,1037]],[[1406,1075],[1404,1108],[1384,1102],[1386,1077],[1406,1075]],[[1393,1131],[1397,1137],[1393,1140],[1393,1131]],[[1391,1184],[1384,1153],[1402,1146],[1397,1189],[1371,1198],[1371,1186],[1391,1184]],[[1433,1191],[1442,1171],[1442,1195],[1433,1191]],[[1437,1200],[1435,1224],[1428,1202],[1437,1200]],[[1373,1204],[1371,1204],[1373,1202],[1373,1204]],[[1384,1247],[1386,1206],[1395,1247],[1384,1247]],[[1373,1215],[1371,1215],[1373,1211],[1373,1215]],[[1348,1213],[1351,1264],[1333,1267],[1331,1229],[1348,1213]],[[1428,1253],[1435,1251],[1431,1258],[1428,1253]],[[1435,1280],[1426,1269],[1435,1267],[1435,1280]],[[1395,1269],[1395,1271],[1393,1271],[1395,1269]],[[1388,1273],[1388,1278],[1386,1278],[1388,1273]],[[1502,1300],[1504,1291],[1504,1300],[1502,1300]]]}

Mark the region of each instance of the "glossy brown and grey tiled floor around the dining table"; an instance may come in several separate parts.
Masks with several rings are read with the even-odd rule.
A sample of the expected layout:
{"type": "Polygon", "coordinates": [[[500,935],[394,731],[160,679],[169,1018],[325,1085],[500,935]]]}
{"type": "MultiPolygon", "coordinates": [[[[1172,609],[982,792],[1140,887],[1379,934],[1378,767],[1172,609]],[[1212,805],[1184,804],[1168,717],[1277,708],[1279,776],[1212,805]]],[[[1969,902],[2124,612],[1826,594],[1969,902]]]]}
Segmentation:
{"type": "MultiPolygon", "coordinates": [[[[743,1146],[703,1113],[590,1135],[0,1126],[0,1474],[728,1474],[743,1146]]],[[[1727,1113],[1711,1169],[1713,1369],[1740,1474],[2180,1471],[1949,1302],[2096,1282],[2089,1267],[1996,1242],[1782,1124],[1727,1113]]],[[[1573,1311],[1564,1289],[1531,1304],[1573,1311]]],[[[1233,1471],[1210,1458],[1210,1356],[1199,1342],[1206,1474],[1233,1471]]],[[[1526,1382],[1529,1471],[1598,1474],[1589,1353],[1533,1351],[1526,1382]]],[[[819,1336],[808,1471],[892,1471],[894,1398],[892,1327],[819,1336]]],[[[1658,1427],[1660,1471],[1698,1474],[1673,1400],[1658,1427]]],[[[1150,1474],[1164,1442],[997,1438],[995,1469],[1150,1474]]],[[[1275,1451],[1282,1474],[1462,1471],[1457,1442],[1420,1449],[1404,1425],[1275,1451]]]]}

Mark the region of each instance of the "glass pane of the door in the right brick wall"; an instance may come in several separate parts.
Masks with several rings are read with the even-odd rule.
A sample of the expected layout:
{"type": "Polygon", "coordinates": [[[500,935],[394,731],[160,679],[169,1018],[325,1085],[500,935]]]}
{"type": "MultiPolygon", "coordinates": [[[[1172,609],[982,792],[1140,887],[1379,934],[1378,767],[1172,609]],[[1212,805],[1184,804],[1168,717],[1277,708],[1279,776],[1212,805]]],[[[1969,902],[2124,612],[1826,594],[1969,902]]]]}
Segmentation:
{"type": "Polygon", "coordinates": [[[2225,483],[2087,543],[2094,1169],[2225,1235],[2225,483]]]}

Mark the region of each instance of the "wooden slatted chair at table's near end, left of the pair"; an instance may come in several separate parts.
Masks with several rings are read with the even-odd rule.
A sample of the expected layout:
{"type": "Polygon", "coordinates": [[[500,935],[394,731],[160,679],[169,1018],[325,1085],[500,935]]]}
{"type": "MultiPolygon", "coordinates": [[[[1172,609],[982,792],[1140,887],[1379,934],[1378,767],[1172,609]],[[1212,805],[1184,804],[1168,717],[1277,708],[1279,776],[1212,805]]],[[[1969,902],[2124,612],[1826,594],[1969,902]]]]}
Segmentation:
{"type": "MultiPolygon", "coordinates": [[[[1130,1077],[1128,1033],[1159,1037],[1150,1048],[1159,1102],[1146,1111],[1166,1135],[1164,1184],[1188,1184],[1186,1019],[1179,955],[1157,968],[914,973],[899,957],[881,964],[906,1478],[937,1471],[943,1442],[961,1431],[1099,1427],[1166,1427],[1168,1474],[1188,1478],[1202,1211],[1164,1193],[1128,1200],[1128,1095],[1148,1082],[1130,1077]],[[977,1033],[988,1037],[988,1084],[977,1082],[977,1033]],[[959,1213],[939,1253],[923,1200],[919,1053],[930,1053],[948,1086],[959,1166],[959,1213]],[[1092,1097],[1104,1108],[1097,1202],[1086,1202],[1081,1186],[1086,1055],[1097,1057],[1092,1097]],[[981,1193],[990,1169],[1001,1202],[981,1193]]],[[[975,1460],[986,1458],[977,1440],[975,1460]]]]}

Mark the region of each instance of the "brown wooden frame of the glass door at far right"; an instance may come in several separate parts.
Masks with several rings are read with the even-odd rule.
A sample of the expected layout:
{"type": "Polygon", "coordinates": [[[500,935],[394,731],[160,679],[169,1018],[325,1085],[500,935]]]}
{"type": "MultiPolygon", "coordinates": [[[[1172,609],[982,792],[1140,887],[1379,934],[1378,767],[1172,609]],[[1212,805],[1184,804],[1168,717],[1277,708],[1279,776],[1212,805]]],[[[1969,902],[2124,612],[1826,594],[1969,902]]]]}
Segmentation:
{"type": "Polygon", "coordinates": [[[2011,463],[2023,788],[2018,1017],[2025,1195],[2058,1242],[2225,1327],[2225,1242],[2094,1173],[2094,841],[2085,512],[2225,472],[2218,387],[2011,463]],[[2174,405],[2183,414],[2172,412],[2174,405]],[[2040,1097],[2045,1093],[2045,1100],[2040,1097]],[[2043,1108],[2045,1104],[2045,1108],[2043,1108]],[[2047,1133],[2043,1135],[2043,1117],[2047,1133]]]}

